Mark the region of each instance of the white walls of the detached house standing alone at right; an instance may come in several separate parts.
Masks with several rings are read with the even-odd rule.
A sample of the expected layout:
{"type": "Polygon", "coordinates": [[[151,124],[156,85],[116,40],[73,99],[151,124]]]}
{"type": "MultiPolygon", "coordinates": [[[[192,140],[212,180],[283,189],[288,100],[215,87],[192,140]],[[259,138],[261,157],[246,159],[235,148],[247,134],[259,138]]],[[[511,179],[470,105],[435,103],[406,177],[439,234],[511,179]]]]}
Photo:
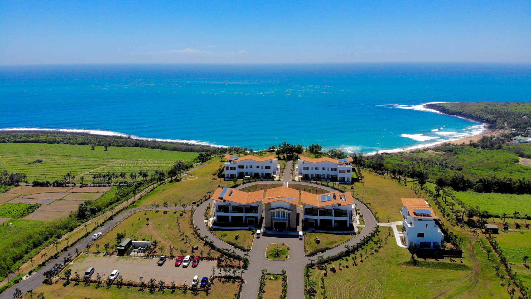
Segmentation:
{"type": "Polygon", "coordinates": [[[406,207],[400,210],[403,221],[402,231],[404,231],[404,238],[406,241],[406,247],[410,247],[410,242],[417,245],[420,248],[420,242],[430,242],[430,248],[433,247],[433,243],[439,243],[441,246],[444,235],[442,234],[439,226],[435,224],[433,218],[417,218],[409,215],[409,211],[406,207]],[[418,233],[424,233],[424,238],[418,238],[418,233]]]}

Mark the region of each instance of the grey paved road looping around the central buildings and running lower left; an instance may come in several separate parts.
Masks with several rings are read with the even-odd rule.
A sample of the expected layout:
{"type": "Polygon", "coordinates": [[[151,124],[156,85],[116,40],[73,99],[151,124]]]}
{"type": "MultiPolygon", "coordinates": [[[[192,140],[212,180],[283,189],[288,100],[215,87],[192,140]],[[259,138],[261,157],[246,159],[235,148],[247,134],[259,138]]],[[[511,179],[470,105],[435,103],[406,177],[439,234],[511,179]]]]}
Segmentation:
{"type": "MultiPolygon", "coordinates": [[[[288,162],[288,165],[286,165],[286,169],[291,168],[291,161],[288,162]]],[[[290,175],[290,172],[287,172],[288,175],[290,175]]],[[[282,178],[282,181],[289,181],[288,176],[285,174],[282,178]]],[[[253,186],[254,184],[278,184],[282,181],[268,181],[268,182],[251,182],[246,183],[241,186],[238,186],[236,189],[242,189],[245,187],[253,186]]],[[[307,182],[289,182],[289,184],[298,184],[298,185],[306,185],[306,186],[312,186],[312,187],[318,187],[327,191],[336,191],[335,189],[324,187],[316,184],[311,184],[307,182]]],[[[282,269],[286,270],[287,276],[288,276],[288,298],[294,298],[294,299],[303,299],[304,298],[304,267],[307,263],[309,263],[309,258],[304,256],[304,241],[301,241],[298,239],[297,234],[263,234],[260,239],[255,239],[253,242],[253,248],[251,252],[244,252],[239,249],[236,249],[229,244],[219,240],[215,235],[213,235],[207,228],[207,225],[205,224],[205,221],[203,219],[203,215],[205,211],[210,207],[210,204],[212,203],[212,200],[207,200],[203,204],[201,204],[198,208],[195,209],[195,213],[193,216],[193,222],[194,225],[198,226],[201,230],[201,235],[206,235],[210,240],[213,241],[214,244],[216,244],[219,248],[226,248],[230,251],[235,251],[237,254],[244,256],[244,254],[249,254],[249,262],[250,267],[245,271],[245,274],[243,275],[244,278],[244,285],[242,288],[242,298],[255,298],[258,294],[258,287],[259,287],[259,280],[260,276],[262,275],[262,269],[268,269],[268,272],[270,273],[280,273],[282,269]],[[289,246],[290,255],[287,260],[284,261],[274,261],[274,260],[268,260],[265,258],[265,250],[267,248],[267,245],[270,243],[279,243],[279,244],[287,244],[289,246]]],[[[338,254],[341,251],[345,251],[344,245],[355,245],[365,236],[370,235],[371,232],[376,228],[378,225],[376,223],[376,219],[370,212],[370,210],[365,207],[362,203],[355,200],[356,206],[359,208],[361,214],[364,216],[365,220],[365,228],[362,230],[361,233],[354,236],[354,238],[347,241],[345,244],[340,245],[336,248],[330,249],[326,252],[315,254],[322,255],[324,257],[329,257],[338,254]]],[[[111,220],[105,223],[104,226],[101,226],[98,230],[99,232],[108,232],[109,230],[112,230],[114,226],[116,226],[118,223],[122,222],[127,216],[134,214],[136,212],[139,212],[140,210],[144,209],[156,209],[156,207],[139,207],[134,208],[130,210],[125,210],[124,212],[115,215],[115,217],[111,220]]],[[[162,208],[164,209],[164,208],[162,208]]],[[[181,210],[182,207],[168,207],[168,210],[181,210]]],[[[190,207],[187,207],[186,210],[190,210],[190,207]]],[[[75,256],[75,249],[78,248],[80,251],[85,248],[85,245],[87,245],[91,241],[91,236],[87,236],[87,238],[79,241],[77,244],[75,244],[70,249],[62,252],[59,254],[58,258],[56,259],[57,263],[60,263],[63,261],[64,257],[67,256],[68,253],[71,254],[71,256],[75,256]]],[[[315,260],[315,256],[313,256],[315,260]]],[[[41,284],[42,280],[44,279],[44,276],[42,274],[53,268],[55,262],[49,262],[48,265],[42,267],[39,269],[34,275],[29,277],[26,280],[23,280],[22,282],[12,286],[11,288],[4,291],[2,294],[0,294],[0,299],[11,299],[13,298],[13,292],[15,288],[20,288],[22,290],[22,293],[25,293],[28,289],[37,289],[39,285],[41,284]]]]}

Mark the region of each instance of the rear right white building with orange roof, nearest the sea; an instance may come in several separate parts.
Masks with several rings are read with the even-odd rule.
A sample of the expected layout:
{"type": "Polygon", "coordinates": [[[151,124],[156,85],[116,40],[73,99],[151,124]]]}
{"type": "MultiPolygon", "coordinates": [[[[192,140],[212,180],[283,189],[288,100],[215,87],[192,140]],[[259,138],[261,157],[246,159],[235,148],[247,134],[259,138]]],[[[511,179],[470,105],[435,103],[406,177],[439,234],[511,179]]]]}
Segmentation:
{"type": "Polygon", "coordinates": [[[302,156],[295,166],[295,180],[297,181],[330,181],[352,183],[352,157],[332,159],[322,157],[311,159],[302,156]]]}

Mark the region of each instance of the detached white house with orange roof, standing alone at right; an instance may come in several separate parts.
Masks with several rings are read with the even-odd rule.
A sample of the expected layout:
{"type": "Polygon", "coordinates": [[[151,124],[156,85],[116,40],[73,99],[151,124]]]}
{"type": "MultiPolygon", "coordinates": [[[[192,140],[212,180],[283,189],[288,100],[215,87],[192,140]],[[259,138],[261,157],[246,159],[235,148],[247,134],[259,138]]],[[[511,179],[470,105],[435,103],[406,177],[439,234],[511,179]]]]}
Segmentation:
{"type": "Polygon", "coordinates": [[[406,247],[416,245],[418,248],[440,248],[444,238],[439,224],[440,218],[424,198],[402,198],[404,207],[400,210],[404,220],[402,231],[406,247]]]}

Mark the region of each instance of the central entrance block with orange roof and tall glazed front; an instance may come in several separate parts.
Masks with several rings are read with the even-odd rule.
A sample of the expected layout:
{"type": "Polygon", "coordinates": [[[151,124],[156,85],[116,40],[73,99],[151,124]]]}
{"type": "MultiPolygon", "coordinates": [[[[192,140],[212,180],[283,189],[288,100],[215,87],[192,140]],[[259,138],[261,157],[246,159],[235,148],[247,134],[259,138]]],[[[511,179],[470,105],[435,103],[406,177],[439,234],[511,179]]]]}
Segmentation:
{"type": "Polygon", "coordinates": [[[262,203],[266,228],[280,232],[297,229],[298,190],[288,187],[267,189],[262,203]]]}

